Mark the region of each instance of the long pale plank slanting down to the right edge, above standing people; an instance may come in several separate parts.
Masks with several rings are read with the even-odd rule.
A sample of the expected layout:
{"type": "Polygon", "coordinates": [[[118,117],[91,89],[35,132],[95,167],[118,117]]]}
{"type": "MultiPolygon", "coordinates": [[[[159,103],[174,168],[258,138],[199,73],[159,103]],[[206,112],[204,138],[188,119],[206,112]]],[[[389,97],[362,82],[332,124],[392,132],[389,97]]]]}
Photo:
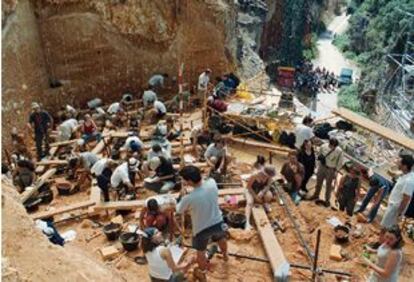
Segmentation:
{"type": "Polygon", "coordinates": [[[392,129],[384,127],[370,119],[364,118],[345,108],[338,108],[336,110],[332,110],[332,113],[342,117],[343,119],[346,119],[347,121],[359,127],[362,127],[400,146],[403,146],[404,148],[414,151],[414,140],[401,134],[398,134],[392,129]]]}

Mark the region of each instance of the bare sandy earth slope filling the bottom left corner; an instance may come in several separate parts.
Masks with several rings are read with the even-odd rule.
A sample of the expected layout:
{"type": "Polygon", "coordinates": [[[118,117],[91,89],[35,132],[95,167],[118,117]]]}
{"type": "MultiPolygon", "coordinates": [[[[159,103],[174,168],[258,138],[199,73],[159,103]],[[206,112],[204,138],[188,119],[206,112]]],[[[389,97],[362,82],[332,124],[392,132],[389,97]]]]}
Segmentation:
{"type": "Polygon", "coordinates": [[[50,243],[17,197],[2,183],[3,281],[125,281],[82,249],[50,243]]]}

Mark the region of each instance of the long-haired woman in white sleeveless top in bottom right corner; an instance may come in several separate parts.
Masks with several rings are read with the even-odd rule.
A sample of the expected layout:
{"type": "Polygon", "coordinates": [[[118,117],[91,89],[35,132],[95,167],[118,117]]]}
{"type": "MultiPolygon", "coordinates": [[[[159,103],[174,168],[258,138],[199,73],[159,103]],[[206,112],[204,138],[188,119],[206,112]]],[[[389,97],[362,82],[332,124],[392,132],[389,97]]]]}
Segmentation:
{"type": "Polygon", "coordinates": [[[366,257],[363,257],[360,261],[372,269],[371,275],[367,280],[368,282],[398,281],[403,257],[403,245],[404,241],[400,228],[398,226],[387,228],[384,235],[384,242],[376,250],[377,262],[373,263],[366,257]]]}

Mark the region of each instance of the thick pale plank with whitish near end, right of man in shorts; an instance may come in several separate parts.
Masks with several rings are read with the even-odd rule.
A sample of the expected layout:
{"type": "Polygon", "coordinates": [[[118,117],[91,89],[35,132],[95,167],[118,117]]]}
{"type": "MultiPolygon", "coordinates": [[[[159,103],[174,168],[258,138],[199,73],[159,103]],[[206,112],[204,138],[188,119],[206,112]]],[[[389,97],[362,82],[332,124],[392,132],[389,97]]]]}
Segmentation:
{"type": "Polygon", "coordinates": [[[287,281],[290,265],[283,254],[282,247],[276,239],[273,228],[263,207],[254,207],[253,219],[259,231],[266,255],[273,271],[274,281],[287,281]]]}

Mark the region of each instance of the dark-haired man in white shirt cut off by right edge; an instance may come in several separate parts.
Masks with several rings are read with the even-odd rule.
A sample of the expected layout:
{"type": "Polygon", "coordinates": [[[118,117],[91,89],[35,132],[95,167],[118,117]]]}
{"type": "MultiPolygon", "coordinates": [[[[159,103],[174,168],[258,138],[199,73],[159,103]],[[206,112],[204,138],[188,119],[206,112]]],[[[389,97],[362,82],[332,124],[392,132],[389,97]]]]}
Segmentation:
{"type": "Polygon", "coordinates": [[[403,175],[398,178],[388,198],[387,210],[381,221],[381,226],[384,228],[398,224],[399,217],[407,211],[414,193],[414,172],[411,171],[413,165],[414,159],[412,156],[400,156],[398,168],[403,172],[403,175]]]}

